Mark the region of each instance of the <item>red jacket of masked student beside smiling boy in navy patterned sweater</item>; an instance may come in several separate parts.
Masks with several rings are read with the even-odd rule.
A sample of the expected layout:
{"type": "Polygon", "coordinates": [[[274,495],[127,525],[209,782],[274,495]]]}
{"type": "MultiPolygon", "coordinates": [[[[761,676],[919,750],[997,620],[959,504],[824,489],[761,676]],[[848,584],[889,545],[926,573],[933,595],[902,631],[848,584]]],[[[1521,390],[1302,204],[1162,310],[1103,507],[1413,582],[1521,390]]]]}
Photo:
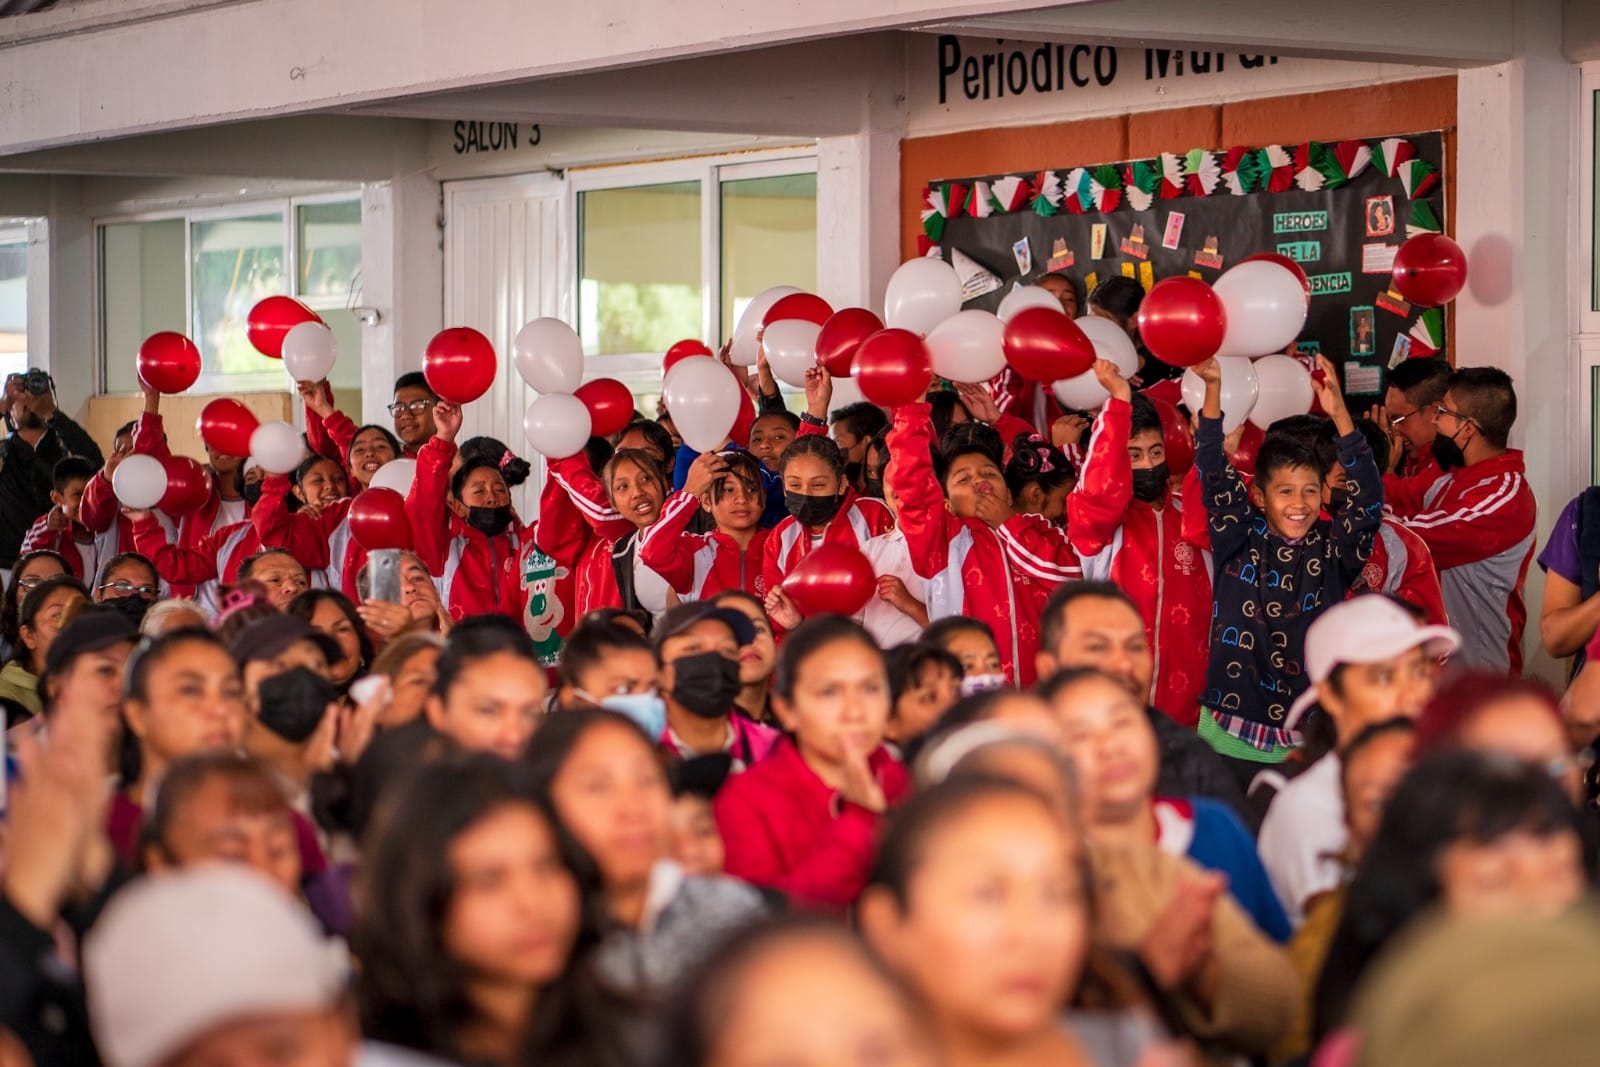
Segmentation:
{"type": "Polygon", "coordinates": [[[1117,582],[1144,616],[1155,654],[1150,702],[1194,726],[1211,648],[1211,574],[1205,553],[1184,541],[1181,493],[1168,491],[1160,509],[1133,499],[1131,432],[1133,406],[1107,400],[1067,494],[1067,530],[1083,574],[1117,582]]]}

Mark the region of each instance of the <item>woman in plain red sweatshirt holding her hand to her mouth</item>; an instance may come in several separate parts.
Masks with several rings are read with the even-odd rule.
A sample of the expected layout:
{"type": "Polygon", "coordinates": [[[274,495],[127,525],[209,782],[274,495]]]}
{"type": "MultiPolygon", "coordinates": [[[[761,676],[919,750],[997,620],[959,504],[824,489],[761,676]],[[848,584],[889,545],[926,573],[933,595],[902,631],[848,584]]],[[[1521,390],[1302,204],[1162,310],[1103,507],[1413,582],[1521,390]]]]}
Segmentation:
{"type": "Polygon", "coordinates": [[[883,653],[842,616],[800,624],[778,657],[773,710],[789,736],[717,795],[726,873],[843,912],[867,881],[883,813],[909,790],[883,747],[883,653]]]}

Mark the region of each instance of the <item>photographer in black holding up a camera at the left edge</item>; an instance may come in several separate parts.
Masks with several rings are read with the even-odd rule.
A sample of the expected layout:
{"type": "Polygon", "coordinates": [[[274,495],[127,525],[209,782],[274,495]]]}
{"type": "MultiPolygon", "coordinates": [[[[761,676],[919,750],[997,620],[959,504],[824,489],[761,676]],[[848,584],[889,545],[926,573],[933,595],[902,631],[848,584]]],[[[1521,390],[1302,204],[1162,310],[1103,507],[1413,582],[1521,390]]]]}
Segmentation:
{"type": "Polygon", "coordinates": [[[51,509],[58,459],[83,456],[99,467],[99,446],[56,406],[56,382],[40,370],[5,379],[6,438],[0,442],[0,568],[16,563],[22,536],[51,509]]]}

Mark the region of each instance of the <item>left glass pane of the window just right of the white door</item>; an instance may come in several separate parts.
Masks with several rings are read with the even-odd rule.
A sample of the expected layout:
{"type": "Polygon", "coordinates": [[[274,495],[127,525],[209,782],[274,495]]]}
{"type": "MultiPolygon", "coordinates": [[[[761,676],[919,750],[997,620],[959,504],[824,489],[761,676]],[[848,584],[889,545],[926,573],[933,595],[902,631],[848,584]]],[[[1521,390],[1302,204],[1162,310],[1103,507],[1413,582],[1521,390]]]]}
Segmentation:
{"type": "Polygon", "coordinates": [[[589,355],[666,352],[701,336],[701,184],[579,194],[578,277],[589,355]]]}

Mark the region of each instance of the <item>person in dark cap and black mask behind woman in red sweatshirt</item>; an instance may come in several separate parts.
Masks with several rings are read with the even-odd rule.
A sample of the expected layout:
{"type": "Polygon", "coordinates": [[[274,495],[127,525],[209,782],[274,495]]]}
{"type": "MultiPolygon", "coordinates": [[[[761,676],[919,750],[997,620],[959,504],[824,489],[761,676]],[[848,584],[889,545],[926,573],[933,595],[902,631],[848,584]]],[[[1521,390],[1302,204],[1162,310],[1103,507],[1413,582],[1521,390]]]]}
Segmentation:
{"type": "Polygon", "coordinates": [[[744,769],[771,752],[778,731],[734,705],[739,649],[755,640],[755,627],[742,611],[706,601],[680,605],[656,621],[651,640],[661,659],[667,710],[661,745],[672,757],[726,752],[744,769]]]}

